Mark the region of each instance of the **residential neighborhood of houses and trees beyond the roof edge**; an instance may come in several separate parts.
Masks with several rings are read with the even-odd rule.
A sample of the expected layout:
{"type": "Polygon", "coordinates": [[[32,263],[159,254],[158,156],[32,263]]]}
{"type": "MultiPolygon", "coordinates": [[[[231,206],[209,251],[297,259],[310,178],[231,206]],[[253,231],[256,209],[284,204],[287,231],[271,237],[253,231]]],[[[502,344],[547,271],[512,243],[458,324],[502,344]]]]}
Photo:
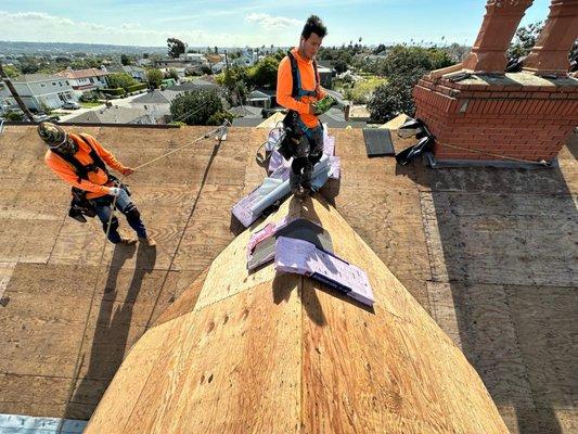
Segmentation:
{"type": "MultiPolygon", "coordinates": [[[[27,108],[35,115],[48,116],[54,122],[165,125],[174,120],[170,107],[178,95],[206,91],[219,97],[227,116],[231,117],[234,125],[257,125],[283,110],[277,102],[274,81],[277,64],[287,50],[277,47],[219,50],[215,47],[204,51],[189,50],[176,56],[170,55],[170,52],[169,55],[156,53],[151,56],[144,53],[131,54],[130,58],[119,53],[119,56],[85,58],[87,64],[94,65],[92,67],[75,68],[78,62],[72,62],[53,74],[13,74],[11,81],[27,108]],[[255,80],[237,80],[235,86],[240,85],[241,88],[234,88],[228,81],[231,72],[241,72],[245,76],[248,72],[257,76],[255,80]],[[156,78],[155,74],[160,78],[156,78]]],[[[59,65],[60,60],[50,56],[48,62],[59,65]]],[[[14,54],[4,55],[0,61],[11,72],[26,69],[34,62],[28,55],[14,54]]],[[[39,63],[42,61],[47,59],[38,58],[39,63]]],[[[334,63],[320,60],[318,65],[320,85],[343,102],[339,108],[323,115],[324,122],[339,127],[364,126],[369,118],[352,119],[350,123],[346,118],[349,106],[355,105],[355,102],[334,90],[334,85],[342,82],[332,66],[334,63]]],[[[343,76],[349,81],[356,80],[351,78],[356,77],[351,71],[343,76]]],[[[25,119],[13,95],[1,81],[0,116],[9,120],[25,119]]]]}

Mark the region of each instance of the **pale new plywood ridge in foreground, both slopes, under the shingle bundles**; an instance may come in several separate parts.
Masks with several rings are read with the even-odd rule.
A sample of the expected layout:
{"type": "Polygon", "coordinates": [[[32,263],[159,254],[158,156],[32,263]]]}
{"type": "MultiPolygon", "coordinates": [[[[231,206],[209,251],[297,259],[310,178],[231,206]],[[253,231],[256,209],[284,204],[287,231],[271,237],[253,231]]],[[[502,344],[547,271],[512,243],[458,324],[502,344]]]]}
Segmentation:
{"type": "Polygon", "coordinates": [[[288,215],[367,271],[373,307],[272,264],[248,273],[245,231],[189,290],[195,305],[134,345],[86,433],[506,433],[460,349],[335,208],[292,197],[268,220],[288,215]]]}

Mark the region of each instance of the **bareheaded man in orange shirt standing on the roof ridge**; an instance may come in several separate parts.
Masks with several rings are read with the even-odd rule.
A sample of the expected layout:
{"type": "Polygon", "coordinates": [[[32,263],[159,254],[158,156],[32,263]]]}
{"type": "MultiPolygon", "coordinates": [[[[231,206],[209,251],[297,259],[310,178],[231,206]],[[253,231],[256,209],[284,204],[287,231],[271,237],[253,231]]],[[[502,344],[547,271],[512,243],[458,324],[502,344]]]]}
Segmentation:
{"type": "Polygon", "coordinates": [[[319,16],[309,16],[299,47],[281,61],[277,75],[277,101],[290,110],[283,124],[292,141],[290,184],[296,195],[311,190],[313,166],[323,154],[323,127],[318,116],[335,103],[319,84],[314,60],[326,34],[319,16]]]}

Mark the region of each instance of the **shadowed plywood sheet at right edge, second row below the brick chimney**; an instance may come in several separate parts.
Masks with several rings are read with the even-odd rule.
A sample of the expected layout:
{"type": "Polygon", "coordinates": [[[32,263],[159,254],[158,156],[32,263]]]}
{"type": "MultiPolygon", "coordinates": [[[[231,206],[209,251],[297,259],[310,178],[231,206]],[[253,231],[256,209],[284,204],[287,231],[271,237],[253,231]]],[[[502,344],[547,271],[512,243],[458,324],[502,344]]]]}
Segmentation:
{"type": "Polygon", "coordinates": [[[490,284],[575,285],[570,196],[422,194],[428,246],[438,279],[490,284]],[[439,243],[439,244],[438,244],[439,243]]]}

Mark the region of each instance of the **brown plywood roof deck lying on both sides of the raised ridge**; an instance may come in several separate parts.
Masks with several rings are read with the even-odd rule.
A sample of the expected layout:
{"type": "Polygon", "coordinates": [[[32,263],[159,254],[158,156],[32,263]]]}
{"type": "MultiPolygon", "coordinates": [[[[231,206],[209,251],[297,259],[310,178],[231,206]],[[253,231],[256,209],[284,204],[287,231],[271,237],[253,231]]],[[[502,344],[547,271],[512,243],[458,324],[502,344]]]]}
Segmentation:
{"type": "MultiPolygon", "coordinates": [[[[84,131],[139,165],[208,129],[84,131]]],[[[4,129],[0,412],[90,417],[130,346],[239,233],[230,207],[262,180],[266,133],[233,128],[216,152],[207,140],[129,178],[159,245],[108,246],[99,270],[99,225],[65,218],[34,128],[4,129]]],[[[368,159],[361,131],[332,133],[343,178],[324,196],[463,349],[510,431],[575,431],[577,144],[550,170],[431,170],[368,159]]]]}

